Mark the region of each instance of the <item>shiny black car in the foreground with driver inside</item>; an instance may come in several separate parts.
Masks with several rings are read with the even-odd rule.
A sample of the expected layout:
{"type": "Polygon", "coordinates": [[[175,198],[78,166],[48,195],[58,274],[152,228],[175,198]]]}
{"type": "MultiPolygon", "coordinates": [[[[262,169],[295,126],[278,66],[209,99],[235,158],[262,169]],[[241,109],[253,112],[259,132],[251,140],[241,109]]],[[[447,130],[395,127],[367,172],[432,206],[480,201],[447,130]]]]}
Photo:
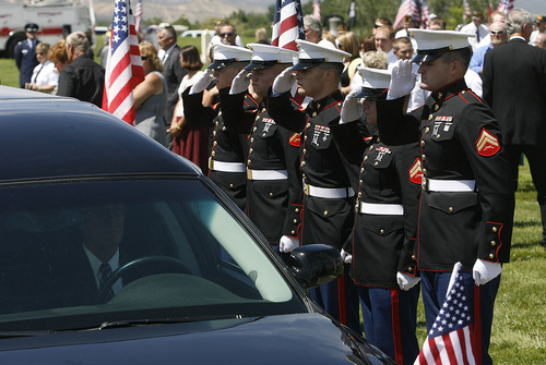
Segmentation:
{"type": "Polygon", "coordinates": [[[307,295],[335,248],[281,258],[134,127],[0,86],[0,364],[393,364],[307,295]]]}

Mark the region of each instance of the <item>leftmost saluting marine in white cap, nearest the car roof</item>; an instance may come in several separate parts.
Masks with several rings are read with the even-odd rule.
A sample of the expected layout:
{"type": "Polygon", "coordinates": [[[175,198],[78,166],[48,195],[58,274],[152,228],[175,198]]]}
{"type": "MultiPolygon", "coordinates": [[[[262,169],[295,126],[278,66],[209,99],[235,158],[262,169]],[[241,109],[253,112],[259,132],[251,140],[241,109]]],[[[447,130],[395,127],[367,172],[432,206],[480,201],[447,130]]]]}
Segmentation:
{"type": "MultiPolygon", "coordinates": [[[[248,64],[252,57],[252,51],[235,46],[215,45],[214,62],[209,65],[203,74],[203,80],[212,81],[213,72],[218,72],[228,66],[239,65],[241,69],[248,64]]],[[[198,85],[195,82],[194,86],[198,85]]],[[[229,82],[227,85],[229,85],[229,82]]],[[[209,83],[206,83],[209,84],[209,83]]],[[[224,85],[223,87],[227,86],[224,85]]],[[[241,209],[246,209],[246,159],[248,154],[248,139],[245,135],[227,130],[222,115],[219,102],[211,107],[204,107],[203,89],[193,87],[182,94],[183,110],[187,120],[192,125],[210,126],[213,124],[211,156],[209,158],[209,178],[222,188],[224,193],[241,209]]],[[[245,99],[247,110],[256,110],[258,104],[252,98],[245,99]]]]}

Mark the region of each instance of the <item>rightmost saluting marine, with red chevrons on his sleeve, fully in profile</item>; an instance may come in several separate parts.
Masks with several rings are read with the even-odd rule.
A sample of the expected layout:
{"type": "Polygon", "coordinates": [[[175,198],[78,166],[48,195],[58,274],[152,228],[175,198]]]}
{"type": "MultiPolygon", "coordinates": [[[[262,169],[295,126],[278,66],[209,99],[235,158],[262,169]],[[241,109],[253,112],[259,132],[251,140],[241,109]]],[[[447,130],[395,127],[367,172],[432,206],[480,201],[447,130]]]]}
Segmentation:
{"type": "Polygon", "coordinates": [[[472,54],[467,40],[472,35],[411,31],[418,45],[413,61],[420,63],[422,87],[432,94],[424,107],[403,118],[405,98],[396,97],[404,89],[400,85],[411,78],[406,77],[411,64],[400,62],[392,70],[389,93],[393,100],[378,101],[378,122],[382,139],[412,136],[420,144],[423,186],[416,257],[427,329],[446,297],[451,270],[460,261],[465,285],[478,285],[474,290],[474,320],[482,325],[482,363],[491,364],[488,348],[494,303],[501,263],[510,258],[514,208],[502,136],[489,107],[463,78],[472,54]]]}

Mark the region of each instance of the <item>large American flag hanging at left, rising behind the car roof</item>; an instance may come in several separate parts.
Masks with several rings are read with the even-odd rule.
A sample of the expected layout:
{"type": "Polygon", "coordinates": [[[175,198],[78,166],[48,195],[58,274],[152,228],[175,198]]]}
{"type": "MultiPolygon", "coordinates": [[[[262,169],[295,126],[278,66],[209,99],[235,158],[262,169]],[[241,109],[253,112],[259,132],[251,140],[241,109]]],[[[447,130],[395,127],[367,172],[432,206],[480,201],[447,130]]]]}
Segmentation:
{"type": "Polygon", "coordinates": [[[134,124],[133,89],[144,80],[144,69],[129,0],[116,0],[111,24],[103,109],[134,124]]]}

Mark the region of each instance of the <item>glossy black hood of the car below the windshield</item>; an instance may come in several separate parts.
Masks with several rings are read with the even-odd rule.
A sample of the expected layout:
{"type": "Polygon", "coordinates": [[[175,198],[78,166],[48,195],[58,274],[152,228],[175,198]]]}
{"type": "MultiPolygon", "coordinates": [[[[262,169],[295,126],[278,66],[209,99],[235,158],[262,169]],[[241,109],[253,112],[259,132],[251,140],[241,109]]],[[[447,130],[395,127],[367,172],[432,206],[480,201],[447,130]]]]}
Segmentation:
{"type": "Polygon", "coordinates": [[[0,340],[1,364],[389,364],[320,314],[200,320],[0,340]]]}

